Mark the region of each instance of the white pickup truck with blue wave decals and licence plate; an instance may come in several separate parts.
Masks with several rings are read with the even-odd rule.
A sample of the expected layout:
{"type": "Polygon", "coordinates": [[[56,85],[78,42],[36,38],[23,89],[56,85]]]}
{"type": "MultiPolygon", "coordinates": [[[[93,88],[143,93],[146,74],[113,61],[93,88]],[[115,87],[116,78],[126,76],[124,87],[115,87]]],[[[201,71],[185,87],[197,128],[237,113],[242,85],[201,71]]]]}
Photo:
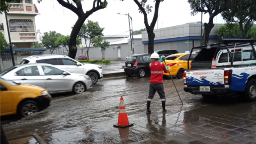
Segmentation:
{"type": "Polygon", "coordinates": [[[222,50],[218,49],[215,54],[217,68],[186,70],[183,74],[184,91],[202,94],[203,97],[240,93],[248,101],[255,100],[256,52],[253,42],[250,43],[250,46],[236,48],[230,48],[227,44],[222,45],[222,50]],[[226,49],[223,50],[223,47],[226,49]]]}

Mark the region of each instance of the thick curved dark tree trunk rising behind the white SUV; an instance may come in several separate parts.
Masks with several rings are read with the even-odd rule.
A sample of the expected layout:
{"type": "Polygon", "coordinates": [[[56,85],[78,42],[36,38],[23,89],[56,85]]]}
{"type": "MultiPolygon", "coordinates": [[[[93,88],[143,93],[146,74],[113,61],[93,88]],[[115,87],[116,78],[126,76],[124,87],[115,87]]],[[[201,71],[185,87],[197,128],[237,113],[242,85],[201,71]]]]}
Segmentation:
{"type": "MultiPolygon", "coordinates": [[[[69,53],[68,57],[75,59],[76,58],[76,52],[77,52],[77,47],[76,47],[76,37],[83,26],[84,21],[86,20],[87,17],[78,17],[72,31],[70,34],[70,39],[69,39],[69,53]],[[74,48],[73,48],[74,47],[74,48]]],[[[87,56],[88,57],[88,56],[87,56]]]]}

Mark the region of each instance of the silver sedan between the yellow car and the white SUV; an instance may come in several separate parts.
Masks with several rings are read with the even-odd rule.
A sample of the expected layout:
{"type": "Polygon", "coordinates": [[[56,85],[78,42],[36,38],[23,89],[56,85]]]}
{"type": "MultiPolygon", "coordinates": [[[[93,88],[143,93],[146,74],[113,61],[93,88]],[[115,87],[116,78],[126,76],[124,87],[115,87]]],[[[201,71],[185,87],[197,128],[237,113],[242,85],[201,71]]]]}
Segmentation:
{"type": "Polygon", "coordinates": [[[1,75],[16,83],[43,87],[49,93],[82,93],[92,86],[91,78],[84,74],[74,74],[46,63],[17,65],[5,70],[1,75]]]}

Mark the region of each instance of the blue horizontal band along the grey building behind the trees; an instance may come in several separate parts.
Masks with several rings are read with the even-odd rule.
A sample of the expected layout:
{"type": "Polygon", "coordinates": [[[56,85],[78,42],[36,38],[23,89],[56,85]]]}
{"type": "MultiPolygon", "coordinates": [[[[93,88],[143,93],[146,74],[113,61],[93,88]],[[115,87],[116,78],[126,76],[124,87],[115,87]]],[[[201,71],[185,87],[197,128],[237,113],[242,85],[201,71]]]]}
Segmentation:
{"type": "MultiPolygon", "coordinates": [[[[174,41],[184,41],[184,40],[193,40],[200,39],[201,36],[186,36],[186,37],[177,37],[177,38],[169,38],[169,39],[159,39],[155,40],[154,43],[164,43],[164,42],[174,42],[174,41]]],[[[209,39],[218,39],[218,36],[209,36],[209,39]]],[[[148,44],[148,41],[142,42],[142,44],[148,44]]]]}

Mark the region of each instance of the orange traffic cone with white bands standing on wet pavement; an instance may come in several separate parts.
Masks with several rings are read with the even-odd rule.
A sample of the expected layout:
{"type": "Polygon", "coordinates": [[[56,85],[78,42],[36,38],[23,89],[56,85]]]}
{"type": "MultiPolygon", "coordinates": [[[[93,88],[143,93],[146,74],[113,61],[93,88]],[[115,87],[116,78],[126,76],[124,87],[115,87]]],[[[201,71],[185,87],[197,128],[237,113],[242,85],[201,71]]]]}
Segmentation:
{"type": "Polygon", "coordinates": [[[129,123],[127,113],[124,106],[124,99],[121,97],[120,99],[120,106],[119,106],[119,115],[118,115],[118,122],[117,125],[114,124],[114,127],[128,127],[132,126],[133,124],[129,123]]]}

